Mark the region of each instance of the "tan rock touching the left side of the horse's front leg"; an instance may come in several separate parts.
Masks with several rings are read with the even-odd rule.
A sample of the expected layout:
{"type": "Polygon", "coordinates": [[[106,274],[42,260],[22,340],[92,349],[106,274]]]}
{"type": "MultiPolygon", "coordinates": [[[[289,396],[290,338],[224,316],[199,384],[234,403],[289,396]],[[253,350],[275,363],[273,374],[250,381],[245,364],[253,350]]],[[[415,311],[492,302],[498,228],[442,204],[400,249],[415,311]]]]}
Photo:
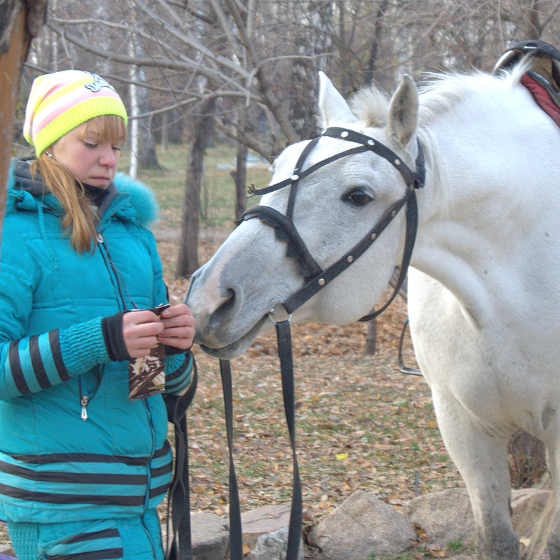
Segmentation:
{"type": "Polygon", "coordinates": [[[463,542],[475,540],[475,518],[465,488],[418,496],[405,504],[405,514],[426,531],[430,542],[442,547],[459,538],[463,542]]]}

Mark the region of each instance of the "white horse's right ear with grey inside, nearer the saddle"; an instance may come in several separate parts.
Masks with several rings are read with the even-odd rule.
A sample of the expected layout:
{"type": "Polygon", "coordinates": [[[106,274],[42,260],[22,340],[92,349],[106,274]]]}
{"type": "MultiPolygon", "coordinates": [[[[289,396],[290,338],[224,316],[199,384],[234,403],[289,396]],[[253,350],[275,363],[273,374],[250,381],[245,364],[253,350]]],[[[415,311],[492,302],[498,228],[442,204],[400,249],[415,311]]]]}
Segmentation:
{"type": "Polygon", "coordinates": [[[393,94],[389,105],[387,132],[389,138],[407,147],[418,125],[418,90],[407,74],[393,94]]]}

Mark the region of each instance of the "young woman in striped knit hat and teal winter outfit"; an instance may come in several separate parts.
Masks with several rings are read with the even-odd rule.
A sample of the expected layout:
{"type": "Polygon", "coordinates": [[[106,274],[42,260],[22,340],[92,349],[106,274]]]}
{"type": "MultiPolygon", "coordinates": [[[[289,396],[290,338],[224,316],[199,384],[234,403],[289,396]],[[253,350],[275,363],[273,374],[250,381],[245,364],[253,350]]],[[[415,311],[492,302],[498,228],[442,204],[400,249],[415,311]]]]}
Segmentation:
{"type": "Polygon", "coordinates": [[[162,391],[190,382],[195,321],[185,304],[153,311],[167,303],[157,209],[116,175],[126,123],[95,74],[31,87],[36,157],[13,162],[0,250],[0,519],[20,560],[163,556],[162,391]],[[155,346],[165,387],[132,395],[134,360],[155,346]]]}

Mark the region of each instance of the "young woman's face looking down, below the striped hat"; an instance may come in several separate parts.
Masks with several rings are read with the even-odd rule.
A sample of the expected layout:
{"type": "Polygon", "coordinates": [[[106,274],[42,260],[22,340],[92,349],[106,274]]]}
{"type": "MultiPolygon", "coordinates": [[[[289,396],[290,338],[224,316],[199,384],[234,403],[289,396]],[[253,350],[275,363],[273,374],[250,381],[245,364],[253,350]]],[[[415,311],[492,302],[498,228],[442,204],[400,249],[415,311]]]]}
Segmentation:
{"type": "Polygon", "coordinates": [[[52,144],[50,153],[78,181],[107,188],[115,176],[120,145],[102,138],[97,127],[87,123],[66,132],[52,144]]]}

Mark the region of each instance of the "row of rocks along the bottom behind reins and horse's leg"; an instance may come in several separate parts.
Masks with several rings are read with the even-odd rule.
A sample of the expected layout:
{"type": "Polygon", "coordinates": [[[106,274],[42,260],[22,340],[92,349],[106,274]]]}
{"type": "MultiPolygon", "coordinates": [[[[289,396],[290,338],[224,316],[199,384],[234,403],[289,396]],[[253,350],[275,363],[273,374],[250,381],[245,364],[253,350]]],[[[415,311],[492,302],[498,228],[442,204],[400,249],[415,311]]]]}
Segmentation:
{"type": "MultiPolygon", "coordinates": [[[[513,526],[522,543],[528,544],[535,522],[551,502],[547,490],[512,492],[513,526]]],[[[286,505],[259,507],[242,514],[244,559],[284,560],[289,519],[290,509],[286,505]]],[[[307,524],[312,525],[310,521],[307,519],[307,524]]],[[[227,519],[199,512],[192,514],[191,525],[195,560],[229,558],[227,519]]],[[[428,550],[431,556],[449,557],[452,543],[470,549],[468,558],[475,558],[470,547],[475,540],[475,524],[463,488],[424,494],[409,500],[400,510],[374,494],[358,490],[304,532],[298,560],[395,556],[414,545],[428,550]]],[[[14,554],[9,546],[0,548],[0,560],[11,556],[14,554]]]]}

